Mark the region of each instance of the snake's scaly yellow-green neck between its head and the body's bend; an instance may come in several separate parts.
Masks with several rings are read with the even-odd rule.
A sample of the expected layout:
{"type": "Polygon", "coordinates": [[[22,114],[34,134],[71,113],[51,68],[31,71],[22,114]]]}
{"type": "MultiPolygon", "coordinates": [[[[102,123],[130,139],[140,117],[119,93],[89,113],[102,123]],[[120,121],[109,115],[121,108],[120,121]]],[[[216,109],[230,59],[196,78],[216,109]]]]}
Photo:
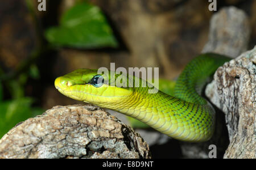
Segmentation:
{"type": "Polygon", "coordinates": [[[108,108],[181,141],[207,141],[213,132],[214,115],[205,114],[214,113],[209,105],[189,103],[161,91],[147,94],[138,88],[126,100],[108,108]]]}

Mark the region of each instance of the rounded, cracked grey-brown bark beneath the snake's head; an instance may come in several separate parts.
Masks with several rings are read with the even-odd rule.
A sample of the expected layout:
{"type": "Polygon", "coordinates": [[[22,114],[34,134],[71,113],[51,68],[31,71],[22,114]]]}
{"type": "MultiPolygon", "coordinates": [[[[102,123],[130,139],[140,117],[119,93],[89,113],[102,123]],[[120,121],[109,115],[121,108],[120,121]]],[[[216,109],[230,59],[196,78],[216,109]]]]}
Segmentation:
{"type": "Polygon", "coordinates": [[[16,125],[0,158],[151,158],[138,133],[94,105],[56,106],[16,125]]]}

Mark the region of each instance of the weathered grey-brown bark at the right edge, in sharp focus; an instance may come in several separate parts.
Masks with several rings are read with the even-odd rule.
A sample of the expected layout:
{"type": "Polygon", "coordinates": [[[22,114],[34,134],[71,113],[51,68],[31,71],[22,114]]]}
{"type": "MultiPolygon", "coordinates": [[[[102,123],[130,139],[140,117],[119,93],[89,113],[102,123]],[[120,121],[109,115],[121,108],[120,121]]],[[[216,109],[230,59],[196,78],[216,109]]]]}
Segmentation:
{"type": "Polygon", "coordinates": [[[256,46],[221,66],[212,86],[210,99],[228,126],[224,158],[256,158],[256,46]]]}

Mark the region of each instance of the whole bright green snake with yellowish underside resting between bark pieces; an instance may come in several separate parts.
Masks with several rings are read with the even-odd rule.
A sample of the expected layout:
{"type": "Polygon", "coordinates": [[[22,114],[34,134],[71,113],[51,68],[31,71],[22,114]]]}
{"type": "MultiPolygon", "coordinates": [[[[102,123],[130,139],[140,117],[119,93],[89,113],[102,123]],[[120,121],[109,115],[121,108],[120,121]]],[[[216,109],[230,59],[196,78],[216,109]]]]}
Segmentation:
{"type": "Polygon", "coordinates": [[[98,74],[92,69],[60,76],[55,87],[65,96],[126,114],[172,138],[203,142],[213,135],[215,111],[200,93],[209,76],[229,60],[213,53],[192,59],[177,78],[172,96],[162,91],[148,93],[152,87],[144,87],[147,82],[141,78],[130,79],[114,71],[98,74]]]}

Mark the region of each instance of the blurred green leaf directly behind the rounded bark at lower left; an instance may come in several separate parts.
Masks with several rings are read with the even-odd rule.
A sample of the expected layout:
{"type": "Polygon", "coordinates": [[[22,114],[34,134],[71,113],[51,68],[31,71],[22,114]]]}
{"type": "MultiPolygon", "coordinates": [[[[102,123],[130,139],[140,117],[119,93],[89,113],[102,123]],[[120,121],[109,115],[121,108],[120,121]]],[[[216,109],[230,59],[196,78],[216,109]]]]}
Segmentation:
{"type": "Polygon", "coordinates": [[[30,97],[0,102],[0,138],[19,122],[39,113],[31,108],[32,102],[30,97]]]}

